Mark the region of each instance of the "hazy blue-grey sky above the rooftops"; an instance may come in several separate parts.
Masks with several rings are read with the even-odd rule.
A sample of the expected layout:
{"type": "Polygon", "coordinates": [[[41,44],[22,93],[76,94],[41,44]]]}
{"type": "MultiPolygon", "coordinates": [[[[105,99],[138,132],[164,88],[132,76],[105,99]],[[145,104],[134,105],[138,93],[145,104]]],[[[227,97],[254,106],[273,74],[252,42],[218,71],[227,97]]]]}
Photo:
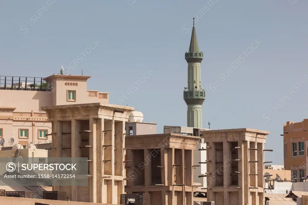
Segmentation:
{"type": "Polygon", "coordinates": [[[195,17],[203,127],[269,131],[265,160],[283,164],[283,124],[308,117],[307,9],[304,0],[2,0],[0,71],[47,77],[71,65],[92,76],[88,89],[142,111],[162,133],[187,126],[195,17]]]}

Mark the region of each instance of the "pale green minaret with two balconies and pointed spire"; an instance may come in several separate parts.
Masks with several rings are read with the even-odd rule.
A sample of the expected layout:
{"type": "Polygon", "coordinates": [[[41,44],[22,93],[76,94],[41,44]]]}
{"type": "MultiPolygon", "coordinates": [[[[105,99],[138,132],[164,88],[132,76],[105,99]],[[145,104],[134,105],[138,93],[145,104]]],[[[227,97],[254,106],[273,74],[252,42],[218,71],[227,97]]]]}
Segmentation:
{"type": "Polygon", "coordinates": [[[188,87],[184,88],[184,100],[187,104],[187,127],[202,128],[202,104],[205,100],[205,90],[201,88],[203,52],[199,50],[198,46],[195,18],[193,18],[193,31],[185,59],[188,63],[188,87]]]}

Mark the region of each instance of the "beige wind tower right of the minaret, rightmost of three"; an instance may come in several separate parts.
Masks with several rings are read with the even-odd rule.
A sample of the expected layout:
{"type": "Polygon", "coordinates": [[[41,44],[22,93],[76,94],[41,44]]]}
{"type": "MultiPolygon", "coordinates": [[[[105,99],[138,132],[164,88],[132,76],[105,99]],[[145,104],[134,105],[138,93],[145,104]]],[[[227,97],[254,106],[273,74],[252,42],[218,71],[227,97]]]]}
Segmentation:
{"type": "Polygon", "coordinates": [[[201,131],[207,143],[207,200],[215,205],[264,204],[264,144],[269,132],[201,131]]]}

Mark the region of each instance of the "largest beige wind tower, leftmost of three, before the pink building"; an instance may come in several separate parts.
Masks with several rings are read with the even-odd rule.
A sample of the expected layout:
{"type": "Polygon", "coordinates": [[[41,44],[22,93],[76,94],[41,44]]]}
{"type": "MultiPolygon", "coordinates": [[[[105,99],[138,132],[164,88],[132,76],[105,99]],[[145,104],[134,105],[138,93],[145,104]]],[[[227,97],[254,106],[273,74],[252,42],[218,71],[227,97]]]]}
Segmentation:
{"type": "Polygon", "coordinates": [[[102,103],[42,107],[52,123],[53,157],[87,157],[88,186],[55,186],[71,201],[120,203],[124,193],[125,122],[133,107],[102,103]]]}

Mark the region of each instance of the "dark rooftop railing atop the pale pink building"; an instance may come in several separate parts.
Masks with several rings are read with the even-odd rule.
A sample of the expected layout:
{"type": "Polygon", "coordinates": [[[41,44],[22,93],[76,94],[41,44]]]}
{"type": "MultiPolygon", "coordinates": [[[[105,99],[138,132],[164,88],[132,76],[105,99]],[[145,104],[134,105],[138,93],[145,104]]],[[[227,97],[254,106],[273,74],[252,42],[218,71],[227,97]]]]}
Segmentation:
{"type": "Polygon", "coordinates": [[[47,82],[43,78],[0,75],[0,90],[47,91],[47,82]]]}

